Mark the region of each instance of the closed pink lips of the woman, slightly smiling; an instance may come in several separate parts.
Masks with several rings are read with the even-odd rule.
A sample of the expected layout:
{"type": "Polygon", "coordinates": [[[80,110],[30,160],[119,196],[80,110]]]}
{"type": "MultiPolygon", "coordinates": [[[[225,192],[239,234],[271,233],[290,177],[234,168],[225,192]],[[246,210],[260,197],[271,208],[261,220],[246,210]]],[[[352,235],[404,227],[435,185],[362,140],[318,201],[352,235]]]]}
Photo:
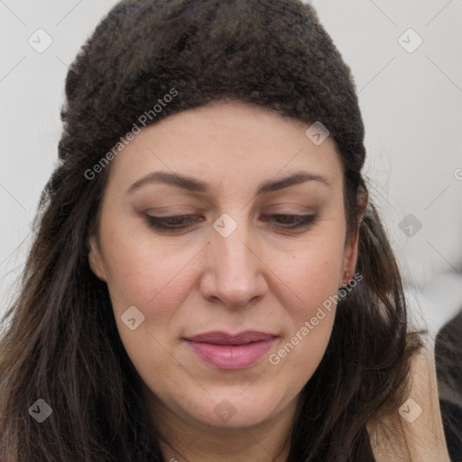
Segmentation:
{"type": "Polygon", "coordinates": [[[272,347],[277,336],[247,330],[236,335],[216,331],[186,337],[199,358],[218,369],[245,369],[258,362],[272,347]]]}

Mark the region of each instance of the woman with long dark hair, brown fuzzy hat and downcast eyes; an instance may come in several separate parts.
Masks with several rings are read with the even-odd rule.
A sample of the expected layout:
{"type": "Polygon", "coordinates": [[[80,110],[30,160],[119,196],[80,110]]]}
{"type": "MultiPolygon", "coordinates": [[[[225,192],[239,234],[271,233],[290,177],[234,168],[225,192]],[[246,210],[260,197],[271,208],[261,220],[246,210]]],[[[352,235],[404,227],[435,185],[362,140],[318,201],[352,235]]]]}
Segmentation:
{"type": "Polygon", "coordinates": [[[123,1],[66,97],[0,346],[2,460],[448,460],[310,5],[123,1]]]}

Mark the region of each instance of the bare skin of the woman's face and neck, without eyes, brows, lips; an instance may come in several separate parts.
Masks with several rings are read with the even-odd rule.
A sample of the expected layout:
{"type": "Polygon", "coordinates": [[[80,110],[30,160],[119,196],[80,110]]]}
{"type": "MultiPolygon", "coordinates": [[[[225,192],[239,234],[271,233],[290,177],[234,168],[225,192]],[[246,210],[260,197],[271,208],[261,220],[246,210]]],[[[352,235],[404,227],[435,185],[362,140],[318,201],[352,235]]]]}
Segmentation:
{"type": "Polygon", "coordinates": [[[166,460],[283,461],[300,391],[328,345],[335,304],[278,365],[269,361],[323,301],[355,273],[357,236],[345,244],[343,176],[335,144],[315,145],[310,125],[235,101],[221,101],[144,128],[110,165],[92,271],[107,283],[117,328],[159,428],[174,449],[166,460]],[[134,182],[154,171],[188,175],[209,193],[134,182]],[[295,171],[325,177],[264,193],[264,180],[295,171]],[[236,230],[212,226],[223,214],[236,230]],[[290,230],[271,214],[317,214],[290,230]],[[193,214],[189,228],[162,232],[146,215],[193,214]],[[346,273],[350,277],[346,277],[346,273]],[[135,306],[144,321],[131,330],[121,316],[135,306]],[[183,337],[210,330],[261,330],[278,336],[245,369],[204,363],[183,337]],[[223,402],[227,400],[227,402],[223,402]],[[216,406],[235,411],[228,420],[216,406]],[[279,451],[281,449],[281,451],[279,451]],[[183,455],[181,456],[180,453],[183,455]]]}

